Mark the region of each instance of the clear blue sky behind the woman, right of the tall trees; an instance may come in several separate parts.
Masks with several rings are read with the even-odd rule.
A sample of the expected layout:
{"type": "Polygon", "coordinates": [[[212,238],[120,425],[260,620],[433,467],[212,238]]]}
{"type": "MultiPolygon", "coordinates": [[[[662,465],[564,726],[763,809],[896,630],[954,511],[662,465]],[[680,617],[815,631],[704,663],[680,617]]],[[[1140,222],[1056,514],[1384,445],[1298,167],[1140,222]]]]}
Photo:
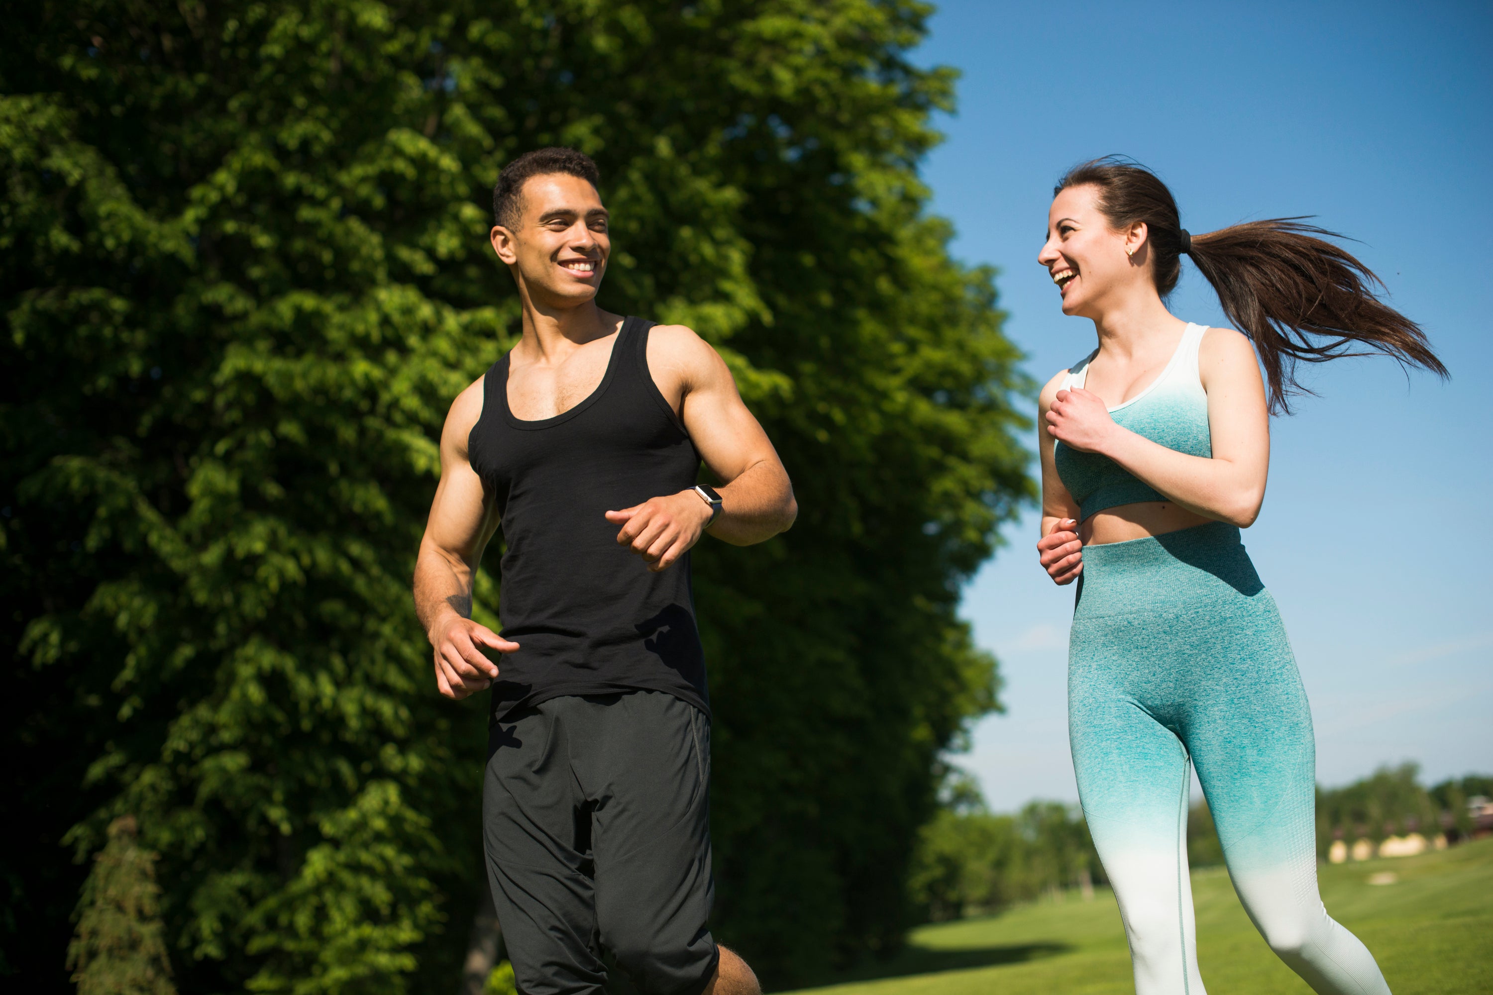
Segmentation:
{"type": "MultiPolygon", "coordinates": [[[[954,252],[1000,269],[1006,333],[1047,379],[1085,355],[1036,266],[1054,179],[1121,152],[1171,185],[1191,231],[1315,215],[1430,334],[1442,383],[1387,360],[1309,373],[1274,422],[1265,510],[1245,533],[1290,630],[1341,785],[1417,761],[1493,770],[1493,6],[947,1],[917,52],[963,72],[923,170],[954,252]]],[[[1224,324],[1191,266],[1172,297],[1224,324]]],[[[1035,439],[1033,439],[1035,445],[1035,439]]],[[[997,810],[1076,800],[1066,731],[1072,588],[1036,565],[1036,519],[964,595],[1008,713],[960,758],[997,810]]]]}

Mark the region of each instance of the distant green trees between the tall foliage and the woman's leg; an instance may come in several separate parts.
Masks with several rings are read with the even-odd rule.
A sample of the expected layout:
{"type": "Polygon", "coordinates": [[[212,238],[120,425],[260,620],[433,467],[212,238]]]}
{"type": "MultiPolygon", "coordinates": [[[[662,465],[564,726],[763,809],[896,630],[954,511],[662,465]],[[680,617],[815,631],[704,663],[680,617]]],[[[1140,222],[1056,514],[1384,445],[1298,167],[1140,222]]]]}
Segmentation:
{"type": "Polygon", "coordinates": [[[1042,894],[1103,880],[1099,853],[1075,806],[1033,801],[1014,816],[991,813],[959,779],[918,838],[908,879],[927,922],[988,913],[1042,894]]]}

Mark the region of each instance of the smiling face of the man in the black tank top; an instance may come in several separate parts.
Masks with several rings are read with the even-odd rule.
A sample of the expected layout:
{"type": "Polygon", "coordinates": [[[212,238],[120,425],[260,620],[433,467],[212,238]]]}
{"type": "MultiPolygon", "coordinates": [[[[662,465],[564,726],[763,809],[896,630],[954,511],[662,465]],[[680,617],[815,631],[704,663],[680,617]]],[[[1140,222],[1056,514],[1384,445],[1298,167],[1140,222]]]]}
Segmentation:
{"type": "Polygon", "coordinates": [[[520,188],[517,228],[493,228],[493,249],[542,307],[569,309],[596,297],[612,243],[606,207],[569,173],[530,176],[520,188]]]}

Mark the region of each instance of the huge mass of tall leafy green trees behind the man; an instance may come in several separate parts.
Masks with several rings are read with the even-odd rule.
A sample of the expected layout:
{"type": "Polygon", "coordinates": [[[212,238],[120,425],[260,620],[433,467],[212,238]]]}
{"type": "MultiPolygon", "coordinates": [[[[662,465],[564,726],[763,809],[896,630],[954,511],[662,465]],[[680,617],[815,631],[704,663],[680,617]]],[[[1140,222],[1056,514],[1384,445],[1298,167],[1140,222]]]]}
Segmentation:
{"type": "Polygon", "coordinates": [[[128,812],[182,991],[455,985],[482,715],[434,697],[408,577],[445,407],[517,331],[487,191],[551,143],[603,170],[603,306],[721,349],[803,507],[697,556],[718,932],[767,980],[896,944],[936,758],[996,707],[959,586],[1030,497],[993,274],[915,173],[953,92],[905,58],[926,15],[9,13],[0,698],[34,817],[6,970],[58,991],[84,868],[27,855],[82,859],[128,812]]]}

